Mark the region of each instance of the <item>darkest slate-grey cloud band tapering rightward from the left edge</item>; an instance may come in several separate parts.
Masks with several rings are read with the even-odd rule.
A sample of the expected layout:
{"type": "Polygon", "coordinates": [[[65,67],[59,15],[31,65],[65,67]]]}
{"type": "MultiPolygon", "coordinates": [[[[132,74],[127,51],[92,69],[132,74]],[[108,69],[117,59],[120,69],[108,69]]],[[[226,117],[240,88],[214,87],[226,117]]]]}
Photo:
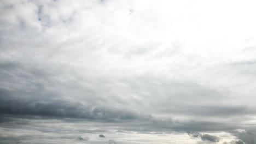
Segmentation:
{"type": "Polygon", "coordinates": [[[12,115],[34,115],[53,117],[73,117],[98,119],[104,121],[120,121],[121,119],[149,119],[150,116],[138,115],[126,110],[114,110],[108,107],[86,106],[68,101],[52,100],[0,100],[0,113],[12,115]]]}

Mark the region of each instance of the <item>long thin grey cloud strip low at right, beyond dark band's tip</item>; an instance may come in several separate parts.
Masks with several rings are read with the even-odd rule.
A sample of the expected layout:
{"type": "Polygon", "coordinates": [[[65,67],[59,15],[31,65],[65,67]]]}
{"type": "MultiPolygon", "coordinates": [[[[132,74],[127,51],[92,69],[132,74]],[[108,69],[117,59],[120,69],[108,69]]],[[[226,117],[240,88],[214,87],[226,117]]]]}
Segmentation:
{"type": "Polygon", "coordinates": [[[184,122],[153,117],[150,121],[130,123],[129,127],[122,127],[121,130],[139,131],[140,133],[147,133],[147,131],[183,131],[185,133],[185,131],[229,131],[237,128],[245,128],[245,125],[199,120],[184,122]]]}

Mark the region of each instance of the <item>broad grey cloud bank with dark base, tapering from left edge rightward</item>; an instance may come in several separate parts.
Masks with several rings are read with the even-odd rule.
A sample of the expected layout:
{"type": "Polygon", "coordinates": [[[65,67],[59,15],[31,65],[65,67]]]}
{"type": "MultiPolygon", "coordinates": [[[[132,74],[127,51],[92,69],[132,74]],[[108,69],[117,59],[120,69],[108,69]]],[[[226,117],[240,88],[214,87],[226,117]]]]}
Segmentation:
{"type": "Polygon", "coordinates": [[[150,117],[150,113],[200,116],[201,118],[241,117],[255,114],[253,107],[246,105],[208,104],[211,101],[225,99],[224,93],[191,81],[181,82],[154,75],[123,77],[83,73],[85,76],[80,76],[79,69],[67,70],[63,69],[64,65],[40,62],[34,64],[22,61],[2,61],[0,67],[3,69],[0,72],[2,113],[101,119],[106,122],[147,119],[146,122],[158,123],[158,127],[142,129],[160,130],[162,128],[167,131],[170,129],[234,130],[242,128],[243,125],[209,120],[200,121],[200,118],[187,123],[155,122],[150,117]],[[51,67],[53,65],[54,67],[51,67]],[[60,101],[56,100],[59,98],[61,98],[60,101]],[[72,100],[69,103],[70,99],[72,100]],[[187,99],[186,104],[184,104],[184,99],[187,99]],[[82,101],[83,104],[78,101],[82,101]],[[92,108],[96,105],[100,106],[92,108]],[[118,110],[119,107],[127,111],[118,110]],[[149,115],[135,114],[129,111],[130,108],[133,111],[149,113],[149,115]]]}

